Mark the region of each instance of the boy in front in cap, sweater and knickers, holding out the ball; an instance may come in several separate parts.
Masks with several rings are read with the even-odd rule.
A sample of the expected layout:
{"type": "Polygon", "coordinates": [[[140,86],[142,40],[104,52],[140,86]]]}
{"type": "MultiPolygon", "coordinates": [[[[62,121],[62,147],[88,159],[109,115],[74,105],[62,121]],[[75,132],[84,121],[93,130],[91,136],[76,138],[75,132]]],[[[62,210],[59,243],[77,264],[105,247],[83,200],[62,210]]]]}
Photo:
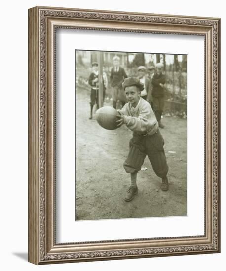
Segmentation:
{"type": "Polygon", "coordinates": [[[128,103],[119,112],[117,126],[125,124],[133,131],[130,140],[128,157],[123,163],[127,173],[131,175],[131,186],[124,198],[131,201],[138,193],[137,173],[148,155],[155,174],[162,178],[161,189],[168,190],[168,165],[163,149],[164,140],[158,129],[158,122],[149,102],[141,98],[144,85],[137,78],[130,77],[122,83],[128,103]]]}

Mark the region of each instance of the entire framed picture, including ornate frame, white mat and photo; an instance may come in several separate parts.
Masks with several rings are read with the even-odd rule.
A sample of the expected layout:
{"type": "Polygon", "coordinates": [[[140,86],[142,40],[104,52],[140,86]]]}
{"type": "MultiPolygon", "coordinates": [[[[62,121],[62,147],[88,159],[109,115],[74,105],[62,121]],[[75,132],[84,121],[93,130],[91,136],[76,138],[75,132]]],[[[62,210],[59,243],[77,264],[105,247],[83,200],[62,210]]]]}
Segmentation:
{"type": "Polygon", "coordinates": [[[221,19],[127,6],[29,8],[30,263],[221,251],[221,19]]]}

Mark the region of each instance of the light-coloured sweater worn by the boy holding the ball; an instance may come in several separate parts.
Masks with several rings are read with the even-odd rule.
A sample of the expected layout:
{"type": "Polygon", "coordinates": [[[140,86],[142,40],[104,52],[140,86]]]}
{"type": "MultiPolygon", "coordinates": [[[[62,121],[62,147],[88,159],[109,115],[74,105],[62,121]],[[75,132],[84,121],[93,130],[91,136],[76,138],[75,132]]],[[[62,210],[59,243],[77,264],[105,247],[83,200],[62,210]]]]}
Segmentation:
{"type": "Polygon", "coordinates": [[[141,97],[135,108],[128,102],[119,111],[125,116],[125,125],[138,134],[152,135],[158,129],[151,105],[141,97]]]}

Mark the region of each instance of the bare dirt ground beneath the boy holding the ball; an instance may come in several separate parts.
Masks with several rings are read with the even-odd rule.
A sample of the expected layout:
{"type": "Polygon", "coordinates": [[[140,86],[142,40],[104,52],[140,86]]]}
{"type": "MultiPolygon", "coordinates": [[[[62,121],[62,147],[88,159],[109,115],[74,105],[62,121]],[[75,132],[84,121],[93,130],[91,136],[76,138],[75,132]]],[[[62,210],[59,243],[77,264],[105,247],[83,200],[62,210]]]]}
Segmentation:
{"type": "MultiPolygon", "coordinates": [[[[111,102],[104,105],[111,106],[111,102]]],[[[75,220],[184,216],[187,214],[187,122],[164,117],[165,153],[169,165],[169,190],[160,189],[148,157],[137,175],[138,195],[124,196],[130,175],[123,169],[132,132],[123,125],[109,131],[89,120],[89,92],[76,92],[76,201],[75,220]]]]}

